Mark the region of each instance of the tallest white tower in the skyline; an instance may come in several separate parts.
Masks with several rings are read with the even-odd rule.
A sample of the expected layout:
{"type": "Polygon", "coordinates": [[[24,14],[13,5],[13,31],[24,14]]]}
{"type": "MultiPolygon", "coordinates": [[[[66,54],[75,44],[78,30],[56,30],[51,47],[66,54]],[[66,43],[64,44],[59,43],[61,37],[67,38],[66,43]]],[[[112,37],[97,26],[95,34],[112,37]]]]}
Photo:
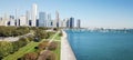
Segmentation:
{"type": "Polygon", "coordinates": [[[32,4],[32,10],[31,10],[31,26],[35,27],[37,23],[37,4],[32,4]]]}

